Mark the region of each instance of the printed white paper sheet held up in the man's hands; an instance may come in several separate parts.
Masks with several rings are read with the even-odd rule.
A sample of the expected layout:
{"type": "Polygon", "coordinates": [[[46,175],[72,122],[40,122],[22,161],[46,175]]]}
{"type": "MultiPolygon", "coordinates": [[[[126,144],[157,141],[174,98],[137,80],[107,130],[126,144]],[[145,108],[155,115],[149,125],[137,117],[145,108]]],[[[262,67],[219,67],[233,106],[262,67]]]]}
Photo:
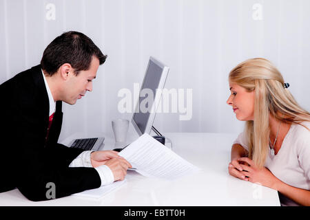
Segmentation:
{"type": "Polygon", "coordinates": [[[118,155],[146,177],[176,179],[199,170],[146,133],[118,155]]]}

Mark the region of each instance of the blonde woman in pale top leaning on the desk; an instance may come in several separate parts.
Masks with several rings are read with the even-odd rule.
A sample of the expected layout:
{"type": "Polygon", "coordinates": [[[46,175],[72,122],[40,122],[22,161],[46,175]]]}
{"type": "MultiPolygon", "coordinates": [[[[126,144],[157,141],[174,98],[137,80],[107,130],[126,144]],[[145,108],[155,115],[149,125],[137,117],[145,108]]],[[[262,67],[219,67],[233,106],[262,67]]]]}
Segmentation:
{"type": "Polygon", "coordinates": [[[229,174],[278,190],[282,206],[310,206],[310,113],[278,69],[253,58],[231,70],[227,100],[246,121],[231,148],[229,174]]]}

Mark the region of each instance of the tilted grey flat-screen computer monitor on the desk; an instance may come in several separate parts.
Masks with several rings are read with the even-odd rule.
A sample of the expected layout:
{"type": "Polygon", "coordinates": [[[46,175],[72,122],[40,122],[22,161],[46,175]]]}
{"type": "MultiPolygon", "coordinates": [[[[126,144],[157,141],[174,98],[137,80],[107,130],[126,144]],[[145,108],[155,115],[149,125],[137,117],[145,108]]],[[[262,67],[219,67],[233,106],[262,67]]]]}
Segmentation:
{"type": "Polygon", "coordinates": [[[149,57],[136,109],[132,115],[132,124],[138,135],[150,133],[152,130],[168,72],[169,67],[154,57],[149,57]],[[152,96],[149,93],[152,93],[152,96]]]}

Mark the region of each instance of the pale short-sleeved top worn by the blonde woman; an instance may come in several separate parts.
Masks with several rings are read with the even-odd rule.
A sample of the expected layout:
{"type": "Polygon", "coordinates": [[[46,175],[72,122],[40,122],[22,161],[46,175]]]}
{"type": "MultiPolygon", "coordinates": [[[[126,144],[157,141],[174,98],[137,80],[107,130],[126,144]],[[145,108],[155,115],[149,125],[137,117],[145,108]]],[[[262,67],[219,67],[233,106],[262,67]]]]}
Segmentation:
{"type": "MultiPolygon", "coordinates": [[[[310,129],[310,122],[302,122],[310,129]]],[[[265,162],[273,175],[290,186],[310,190],[310,131],[299,124],[291,124],[289,132],[276,155],[269,154],[265,162]]],[[[240,144],[248,151],[244,132],[238,135],[234,144],[240,144]]],[[[298,206],[297,203],[279,193],[282,206],[298,206]]]]}

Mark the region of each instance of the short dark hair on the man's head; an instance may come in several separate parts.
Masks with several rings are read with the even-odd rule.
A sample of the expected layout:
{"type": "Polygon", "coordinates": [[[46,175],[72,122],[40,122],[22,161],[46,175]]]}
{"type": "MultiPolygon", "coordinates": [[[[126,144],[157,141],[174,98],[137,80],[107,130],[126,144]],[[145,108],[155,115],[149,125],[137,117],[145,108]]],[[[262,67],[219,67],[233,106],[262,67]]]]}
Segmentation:
{"type": "Polygon", "coordinates": [[[52,76],[61,65],[70,63],[75,70],[74,73],[79,74],[79,71],[90,68],[92,56],[99,59],[100,65],[105,63],[107,58],[85,34],[65,32],[45,48],[41,68],[52,76]]]}

